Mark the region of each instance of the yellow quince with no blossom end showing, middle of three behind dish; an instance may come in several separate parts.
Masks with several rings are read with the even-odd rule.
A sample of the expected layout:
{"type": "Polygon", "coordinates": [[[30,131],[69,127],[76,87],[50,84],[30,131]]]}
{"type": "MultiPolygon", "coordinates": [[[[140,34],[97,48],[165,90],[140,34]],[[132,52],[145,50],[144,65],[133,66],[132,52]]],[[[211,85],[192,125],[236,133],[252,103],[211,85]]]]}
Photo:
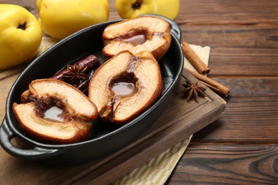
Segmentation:
{"type": "Polygon", "coordinates": [[[57,39],[96,23],[108,21],[108,0],[38,0],[43,31],[57,39]]]}

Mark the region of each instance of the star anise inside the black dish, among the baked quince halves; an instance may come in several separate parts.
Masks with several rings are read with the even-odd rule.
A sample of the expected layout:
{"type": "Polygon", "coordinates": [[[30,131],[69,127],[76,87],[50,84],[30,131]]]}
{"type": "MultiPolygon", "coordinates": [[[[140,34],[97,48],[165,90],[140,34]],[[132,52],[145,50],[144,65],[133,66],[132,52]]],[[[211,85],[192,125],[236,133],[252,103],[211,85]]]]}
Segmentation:
{"type": "Polygon", "coordinates": [[[77,85],[81,80],[86,80],[88,78],[88,75],[84,73],[84,71],[87,69],[87,66],[81,68],[79,64],[76,64],[67,65],[66,68],[68,72],[63,75],[68,78],[68,83],[71,83],[72,85],[77,85]]]}

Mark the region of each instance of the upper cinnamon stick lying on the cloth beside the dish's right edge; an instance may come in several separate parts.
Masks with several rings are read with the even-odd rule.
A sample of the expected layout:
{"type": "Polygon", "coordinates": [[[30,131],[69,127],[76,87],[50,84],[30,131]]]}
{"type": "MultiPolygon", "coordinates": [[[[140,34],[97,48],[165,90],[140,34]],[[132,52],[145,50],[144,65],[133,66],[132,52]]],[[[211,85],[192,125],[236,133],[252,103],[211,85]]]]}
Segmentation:
{"type": "Polygon", "coordinates": [[[188,45],[187,42],[182,42],[182,51],[185,55],[185,58],[190,61],[193,67],[197,70],[198,73],[206,75],[210,73],[210,68],[205,65],[205,63],[197,56],[195,51],[188,45]]]}

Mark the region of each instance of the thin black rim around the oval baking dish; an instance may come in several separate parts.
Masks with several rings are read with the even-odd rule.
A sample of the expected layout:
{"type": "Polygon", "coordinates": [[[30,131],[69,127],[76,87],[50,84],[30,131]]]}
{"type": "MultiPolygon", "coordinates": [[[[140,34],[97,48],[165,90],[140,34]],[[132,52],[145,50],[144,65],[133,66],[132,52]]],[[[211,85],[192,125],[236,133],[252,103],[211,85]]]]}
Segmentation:
{"type": "MultiPolygon", "coordinates": [[[[143,15],[145,16],[145,15],[143,15]]],[[[153,15],[153,14],[146,14],[146,16],[157,16],[157,15],[153,15]]],[[[160,18],[164,18],[163,16],[158,16],[160,18]]],[[[165,18],[167,21],[170,20],[168,18],[165,18]]],[[[38,58],[36,58],[33,62],[31,62],[25,69],[24,71],[21,73],[21,75],[19,75],[19,77],[16,79],[16,81],[14,82],[14,84],[11,87],[11,90],[9,92],[9,95],[7,97],[7,101],[6,101],[6,117],[4,119],[6,119],[6,123],[7,125],[11,128],[11,132],[14,133],[15,137],[20,137],[21,139],[24,139],[28,142],[30,142],[31,144],[34,144],[34,146],[37,147],[46,147],[46,148],[52,148],[52,149],[63,149],[65,147],[78,147],[79,145],[86,145],[86,144],[90,144],[91,142],[97,142],[98,140],[101,139],[109,139],[110,137],[114,137],[117,134],[120,134],[122,132],[125,132],[126,129],[128,129],[128,127],[131,127],[133,124],[135,124],[135,122],[138,122],[138,120],[141,120],[143,117],[145,117],[145,115],[148,115],[149,112],[152,112],[153,109],[155,109],[155,107],[157,107],[165,98],[165,96],[167,96],[168,92],[173,88],[173,86],[175,85],[175,83],[177,82],[177,80],[180,79],[180,75],[182,74],[182,70],[183,70],[183,53],[182,53],[182,49],[180,48],[180,51],[178,52],[182,58],[181,61],[179,61],[180,63],[180,68],[178,69],[177,73],[175,74],[175,78],[173,79],[173,82],[171,83],[171,85],[168,87],[167,90],[165,90],[165,92],[163,93],[163,95],[161,95],[157,101],[155,101],[155,103],[153,105],[151,105],[150,107],[148,107],[148,109],[146,109],[142,114],[138,115],[138,117],[135,117],[135,119],[133,119],[132,121],[128,122],[127,124],[119,127],[118,129],[113,130],[112,132],[109,132],[108,134],[104,134],[101,137],[97,137],[94,139],[89,139],[83,142],[78,142],[78,143],[73,143],[73,144],[44,144],[41,142],[36,142],[33,139],[30,139],[29,137],[27,137],[24,133],[22,133],[21,131],[19,131],[19,129],[17,129],[16,127],[14,127],[14,125],[12,124],[11,121],[11,114],[14,114],[14,112],[11,112],[9,110],[11,110],[11,105],[13,102],[11,102],[11,94],[14,91],[14,86],[21,80],[22,76],[24,75],[24,73],[26,73],[26,71],[29,70],[29,68],[31,68],[32,65],[35,65],[36,62],[39,60],[39,58],[43,57],[44,55],[46,55],[46,53],[51,52],[52,50],[54,50],[57,46],[59,46],[61,43],[65,43],[66,41],[70,40],[71,38],[74,38],[75,36],[78,36],[79,34],[86,32],[92,28],[97,28],[97,27],[101,27],[103,25],[108,25],[111,23],[116,23],[119,21],[123,21],[123,19],[120,20],[116,20],[116,21],[107,21],[104,23],[99,23],[93,26],[89,26],[88,28],[84,28],[81,31],[78,31],[76,33],[73,33],[71,36],[68,36],[67,38],[64,38],[63,40],[59,41],[58,43],[56,43],[54,46],[52,46],[51,48],[48,49],[48,51],[46,51],[45,53],[43,53],[41,56],[39,56],[38,58]]],[[[173,22],[173,21],[172,21],[173,22]]],[[[174,22],[173,22],[174,23],[174,22]]],[[[170,26],[175,27],[175,29],[179,29],[178,26],[173,25],[173,23],[170,22],[170,26]]],[[[178,38],[180,38],[180,35],[178,35],[180,33],[173,33],[171,32],[171,36],[172,36],[172,40],[177,43],[180,44],[180,41],[178,38]]]]}

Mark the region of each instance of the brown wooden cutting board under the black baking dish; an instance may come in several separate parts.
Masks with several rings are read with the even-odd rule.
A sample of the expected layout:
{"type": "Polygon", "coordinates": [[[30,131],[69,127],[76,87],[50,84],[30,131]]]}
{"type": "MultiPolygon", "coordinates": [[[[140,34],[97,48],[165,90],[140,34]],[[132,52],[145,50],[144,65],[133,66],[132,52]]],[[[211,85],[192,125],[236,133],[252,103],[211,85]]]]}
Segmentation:
{"type": "MultiPolygon", "coordinates": [[[[196,82],[190,73],[185,78],[196,82]]],[[[160,119],[142,137],[118,152],[98,162],[78,166],[49,166],[40,162],[16,159],[0,148],[0,182],[3,184],[110,184],[144,162],[170,149],[178,142],[217,120],[225,110],[226,102],[209,88],[207,97],[199,102],[187,102],[177,92],[175,100],[168,105],[160,119]]],[[[19,141],[14,139],[14,144],[19,141]]],[[[109,146],[108,146],[109,147],[109,146]]]]}

